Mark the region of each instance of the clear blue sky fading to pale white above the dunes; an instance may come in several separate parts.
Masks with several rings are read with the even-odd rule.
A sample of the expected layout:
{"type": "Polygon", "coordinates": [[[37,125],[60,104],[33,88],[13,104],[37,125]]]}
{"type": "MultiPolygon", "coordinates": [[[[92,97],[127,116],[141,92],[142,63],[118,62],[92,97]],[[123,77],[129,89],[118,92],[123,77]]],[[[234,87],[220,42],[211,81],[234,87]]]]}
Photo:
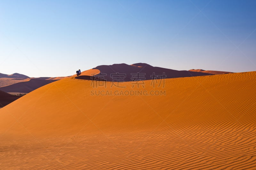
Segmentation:
{"type": "Polygon", "coordinates": [[[0,73],[115,63],[256,71],[255,0],[1,0],[0,73]]]}

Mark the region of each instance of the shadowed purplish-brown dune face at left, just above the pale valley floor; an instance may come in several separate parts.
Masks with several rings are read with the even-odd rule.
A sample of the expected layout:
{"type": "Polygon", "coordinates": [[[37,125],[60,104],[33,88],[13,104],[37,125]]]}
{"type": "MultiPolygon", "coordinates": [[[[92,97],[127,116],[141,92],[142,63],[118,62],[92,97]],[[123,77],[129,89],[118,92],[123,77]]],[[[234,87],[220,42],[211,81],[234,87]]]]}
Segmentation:
{"type": "Polygon", "coordinates": [[[31,79],[29,81],[18,82],[9,86],[0,87],[0,90],[4,92],[29,93],[39,87],[42,87],[54,81],[57,81],[57,80],[31,79]]]}

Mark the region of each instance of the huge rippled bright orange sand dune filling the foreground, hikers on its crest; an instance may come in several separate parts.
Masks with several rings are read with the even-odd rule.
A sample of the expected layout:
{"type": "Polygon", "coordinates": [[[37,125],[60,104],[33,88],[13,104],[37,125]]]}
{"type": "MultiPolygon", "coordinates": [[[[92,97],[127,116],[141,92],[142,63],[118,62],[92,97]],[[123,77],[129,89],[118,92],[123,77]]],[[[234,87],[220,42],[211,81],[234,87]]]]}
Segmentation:
{"type": "Polygon", "coordinates": [[[256,72],[97,82],[55,81],[0,109],[0,169],[255,169],[256,72]]]}

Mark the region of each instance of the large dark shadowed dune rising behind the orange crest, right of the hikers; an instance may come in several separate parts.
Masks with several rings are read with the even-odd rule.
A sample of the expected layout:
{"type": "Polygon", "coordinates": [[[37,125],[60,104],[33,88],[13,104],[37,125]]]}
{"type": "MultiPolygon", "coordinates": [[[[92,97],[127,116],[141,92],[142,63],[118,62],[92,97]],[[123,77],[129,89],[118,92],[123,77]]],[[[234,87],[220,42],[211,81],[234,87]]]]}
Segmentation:
{"type": "Polygon", "coordinates": [[[100,74],[97,74],[96,77],[104,77],[106,81],[139,81],[212,75],[209,73],[153,67],[146,63],[101,65],[94,69],[100,70],[100,74]]]}

